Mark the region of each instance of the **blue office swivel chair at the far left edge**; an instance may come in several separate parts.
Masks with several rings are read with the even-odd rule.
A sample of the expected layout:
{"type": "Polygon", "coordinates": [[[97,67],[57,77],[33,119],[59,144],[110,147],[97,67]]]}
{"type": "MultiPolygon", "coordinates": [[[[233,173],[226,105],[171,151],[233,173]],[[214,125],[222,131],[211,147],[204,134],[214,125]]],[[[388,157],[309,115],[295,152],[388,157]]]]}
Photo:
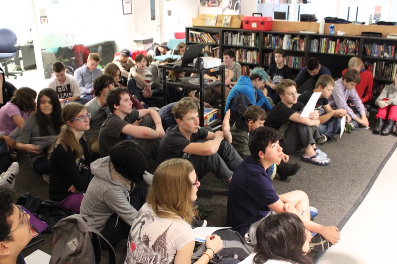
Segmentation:
{"type": "Polygon", "coordinates": [[[16,34],[9,28],[0,29],[0,62],[4,63],[5,76],[22,76],[22,71],[8,72],[8,64],[19,57],[19,45],[16,44],[16,34]]]}

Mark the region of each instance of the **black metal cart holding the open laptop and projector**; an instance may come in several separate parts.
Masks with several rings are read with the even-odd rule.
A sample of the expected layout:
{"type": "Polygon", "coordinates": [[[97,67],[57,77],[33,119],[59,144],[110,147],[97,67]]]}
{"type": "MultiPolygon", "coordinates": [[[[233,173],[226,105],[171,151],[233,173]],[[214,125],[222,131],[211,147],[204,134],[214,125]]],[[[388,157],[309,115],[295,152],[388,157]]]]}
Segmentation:
{"type": "Polygon", "coordinates": [[[168,98],[167,98],[167,87],[181,87],[185,88],[188,90],[197,90],[200,92],[200,126],[204,126],[204,91],[221,86],[222,87],[222,103],[221,103],[221,120],[223,121],[223,117],[225,116],[225,66],[221,65],[219,67],[215,68],[210,68],[210,69],[195,69],[193,67],[175,67],[173,65],[164,65],[163,66],[163,90],[164,90],[164,105],[169,104],[168,98]],[[186,72],[187,75],[190,75],[191,73],[196,73],[199,74],[199,83],[198,84],[192,84],[190,81],[197,79],[193,77],[183,77],[180,78],[180,81],[175,82],[175,81],[170,81],[167,80],[167,75],[166,75],[166,70],[173,70],[176,72],[186,72]],[[219,74],[222,75],[221,81],[214,81],[214,82],[204,82],[204,74],[209,74],[212,72],[219,72],[219,74]]]}

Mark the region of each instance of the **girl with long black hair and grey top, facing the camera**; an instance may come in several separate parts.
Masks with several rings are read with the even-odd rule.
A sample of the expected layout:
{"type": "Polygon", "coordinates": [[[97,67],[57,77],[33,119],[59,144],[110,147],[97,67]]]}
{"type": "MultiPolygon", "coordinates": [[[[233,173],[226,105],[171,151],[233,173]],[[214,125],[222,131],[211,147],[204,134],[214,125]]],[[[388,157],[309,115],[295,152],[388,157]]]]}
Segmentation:
{"type": "Polygon", "coordinates": [[[48,174],[47,150],[62,126],[61,104],[57,92],[44,88],[37,97],[37,110],[23,124],[16,148],[26,151],[29,164],[40,174],[48,174]]]}

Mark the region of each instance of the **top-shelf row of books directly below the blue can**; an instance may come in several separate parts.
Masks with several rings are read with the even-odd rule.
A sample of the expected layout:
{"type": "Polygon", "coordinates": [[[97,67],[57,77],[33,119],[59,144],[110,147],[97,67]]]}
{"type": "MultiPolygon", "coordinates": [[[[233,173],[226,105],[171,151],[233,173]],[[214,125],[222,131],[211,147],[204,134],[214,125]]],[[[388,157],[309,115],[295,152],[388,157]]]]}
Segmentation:
{"type": "Polygon", "coordinates": [[[310,51],[328,54],[356,55],[358,54],[358,40],[319,38],[310,41],[310,51]]]}

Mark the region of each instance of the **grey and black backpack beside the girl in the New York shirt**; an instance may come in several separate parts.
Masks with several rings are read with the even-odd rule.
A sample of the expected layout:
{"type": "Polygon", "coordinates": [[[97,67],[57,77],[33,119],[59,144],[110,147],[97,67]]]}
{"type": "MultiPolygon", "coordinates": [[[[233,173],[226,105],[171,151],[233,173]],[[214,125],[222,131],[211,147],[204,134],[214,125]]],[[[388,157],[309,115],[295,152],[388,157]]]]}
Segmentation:
{"type": "MultiPolygon", "coordinates": [[[[213,234],[220,236],[224,247],[214,255],[209,263],[217,263],[231,258],[242,261],[254,251],[254,248],[248,245],[238,232],[230,229],[220,229],[213,234]]],[[[205,243],[200,245],[192,255],[192,263],[197,261],[206,250],[205,243]]]]}

